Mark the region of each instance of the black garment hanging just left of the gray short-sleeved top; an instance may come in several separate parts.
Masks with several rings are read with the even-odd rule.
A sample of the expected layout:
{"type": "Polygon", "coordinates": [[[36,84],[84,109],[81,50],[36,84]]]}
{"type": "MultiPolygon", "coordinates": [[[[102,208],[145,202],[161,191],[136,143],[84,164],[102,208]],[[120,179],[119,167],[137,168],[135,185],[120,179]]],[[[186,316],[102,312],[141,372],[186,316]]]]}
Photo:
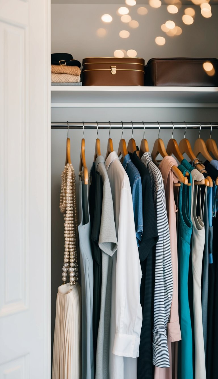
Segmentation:
{"type": "Polygon", "coordinates": [[[101,210],[103,199],[103,182],[99,172],[95,172],[95,209],[92,225],[92,258],[93,258],[93,354],[94,354],[94,374],[96,365],[96,351],[98,338],[98,325],[101,307],[101,249],[98,246],[99,233],[101,227],[101,210]]]}

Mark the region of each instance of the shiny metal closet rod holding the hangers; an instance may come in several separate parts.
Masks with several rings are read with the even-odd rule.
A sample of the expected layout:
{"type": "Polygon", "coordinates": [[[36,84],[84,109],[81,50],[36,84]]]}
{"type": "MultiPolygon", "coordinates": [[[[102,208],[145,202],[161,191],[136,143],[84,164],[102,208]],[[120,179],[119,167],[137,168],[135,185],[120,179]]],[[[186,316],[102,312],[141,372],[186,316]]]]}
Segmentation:
{"type": "Polygon", "coordinates": [[[83,121],[75,121],[75,122],[51,122],[51,129],[83,129],[83,124],[84,124],[84,129],[97,129],[97,123],[98,123],[98,129],[109,129],[110,124],[111,124],[111,129],[121,129],[124,127],[125,129],[131,129],[132,124],[134,129],[143,129],[144,124],[146,129],[158,129],[159,124],[161,129],[172,129],[173,125],[174,128],[181,128],[184,129],[185,125],[187,126],[188,129],[198,129],[200,128],[201,124],[201,129],[209,129],[209,128],[218,128],[218,122],[147,122],[145,121],[131,121],[131,122],[125,122],[123,121],[123,124],[121,121],[109,121],[107,122],[102,122],[102,121],[92,121],[92,122],[85,122],[83,121]]]}

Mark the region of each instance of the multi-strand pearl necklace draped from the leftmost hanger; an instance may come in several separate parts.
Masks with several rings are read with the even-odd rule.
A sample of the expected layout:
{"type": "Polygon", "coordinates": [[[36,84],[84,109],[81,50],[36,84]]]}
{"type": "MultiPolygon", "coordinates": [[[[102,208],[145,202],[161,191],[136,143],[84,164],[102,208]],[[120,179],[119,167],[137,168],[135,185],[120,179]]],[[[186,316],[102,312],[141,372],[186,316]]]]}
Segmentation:
{"type": "MultiPolygon", "coordinates": [[[[64,266],[62,281],[67,280],[70,274],[70,289],[78,281],[77,260],[77,212],[76,212],[76,179],[72,164],[67,163],[61,174],[60,210],[64,213],[64,266]],[[70,263],[69,263],[70,261],[70,263]]],[[[64,284],[63,283],[63,284],[64,284]]]]}

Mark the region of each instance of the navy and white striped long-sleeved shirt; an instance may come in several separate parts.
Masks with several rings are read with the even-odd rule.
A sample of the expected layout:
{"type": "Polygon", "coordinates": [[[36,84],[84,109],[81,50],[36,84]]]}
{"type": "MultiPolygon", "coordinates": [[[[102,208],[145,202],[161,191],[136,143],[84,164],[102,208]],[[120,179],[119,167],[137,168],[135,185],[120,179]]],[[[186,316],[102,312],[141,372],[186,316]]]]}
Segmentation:
{"type": "Polygon", "coordinates": [[[151,153],[146,152],[141,161],[148,168],[151,177],[151,190],[156,208],[159,235],[156,244],[154,282],[153,364],[158,367],[169,367],[167,323],[170,319],[173,296],[173,274],[165,190],[161,172],[153,163],[151,153]]]}

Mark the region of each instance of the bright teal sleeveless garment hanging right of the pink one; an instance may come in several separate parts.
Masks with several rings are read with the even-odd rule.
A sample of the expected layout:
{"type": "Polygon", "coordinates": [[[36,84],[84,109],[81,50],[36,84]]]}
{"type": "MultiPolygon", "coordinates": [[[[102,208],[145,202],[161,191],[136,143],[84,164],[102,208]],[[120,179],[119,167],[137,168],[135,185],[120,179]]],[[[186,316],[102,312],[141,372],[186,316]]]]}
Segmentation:
{"type": "MultiPolygon", "coordinates": [[[[181,164],[182,174],[190,172],[181,164]]],[[[192,175],[189,176],[192,183],[192,175]]],[[[191,221],[192,186],[181,183],[178,201],[178,276],[179,276],[179,321],[182,340],[179,341],[178,378],[193,379],[192,325],[188,303],[188,267],[192,236],[191,221]]]]}

